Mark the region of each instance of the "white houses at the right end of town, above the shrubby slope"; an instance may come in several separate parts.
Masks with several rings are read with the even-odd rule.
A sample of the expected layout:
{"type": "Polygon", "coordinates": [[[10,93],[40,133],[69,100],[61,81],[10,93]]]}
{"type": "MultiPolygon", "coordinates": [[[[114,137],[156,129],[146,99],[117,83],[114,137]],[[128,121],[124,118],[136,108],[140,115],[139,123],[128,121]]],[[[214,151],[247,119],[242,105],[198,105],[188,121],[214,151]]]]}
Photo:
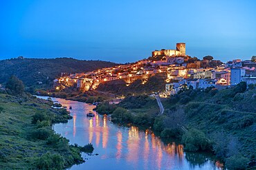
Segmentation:
{"type": "Polygon", "coordinates": [[[168,70],[167,78],[170,81],[166,83],[165,93],[162,93],[162,96],[176,94],[184,85],[193,89],[207,87],[224,89],[235,86],[241,81],[246,82],[247,85],[256,84],[256,63],[237,59],[214,68],[180,67],[177,70],[168,70]]]}

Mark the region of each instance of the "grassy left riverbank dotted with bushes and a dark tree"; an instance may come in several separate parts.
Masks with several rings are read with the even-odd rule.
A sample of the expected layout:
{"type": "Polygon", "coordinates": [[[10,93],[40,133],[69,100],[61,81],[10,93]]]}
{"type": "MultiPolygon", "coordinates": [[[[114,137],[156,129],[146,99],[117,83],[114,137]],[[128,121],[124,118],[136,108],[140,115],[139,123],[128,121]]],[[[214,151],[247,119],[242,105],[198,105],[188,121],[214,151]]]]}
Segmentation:
{"type": "Polygon", "coordinates": [[[84,162],[81,151],[91,153],[93,146],[69,145],[51,128],[72,118],[66,109],[25,94],[15,76],[6,87],[0,93],[0,169],[65,169],[84,162]]]}

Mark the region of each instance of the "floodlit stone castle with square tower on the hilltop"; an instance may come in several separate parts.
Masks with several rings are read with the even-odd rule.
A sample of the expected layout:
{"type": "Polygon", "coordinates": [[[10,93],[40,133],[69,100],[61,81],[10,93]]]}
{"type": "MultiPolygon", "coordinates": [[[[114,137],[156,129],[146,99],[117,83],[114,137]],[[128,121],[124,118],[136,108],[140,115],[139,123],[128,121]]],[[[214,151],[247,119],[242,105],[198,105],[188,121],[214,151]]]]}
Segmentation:
{"type": "Polygon", "coordinates": [[[176,43],[176,50],[155,50],[152,56],[186,56],[185,43],[176,43]]]}

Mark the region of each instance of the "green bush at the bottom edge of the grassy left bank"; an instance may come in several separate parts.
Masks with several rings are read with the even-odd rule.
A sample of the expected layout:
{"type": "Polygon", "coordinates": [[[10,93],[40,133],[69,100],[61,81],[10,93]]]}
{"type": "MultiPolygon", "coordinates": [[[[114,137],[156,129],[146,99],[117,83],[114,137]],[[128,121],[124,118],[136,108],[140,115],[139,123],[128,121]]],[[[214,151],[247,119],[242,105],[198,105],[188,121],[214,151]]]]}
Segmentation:
{"type": "Polygon", "coordinates": [[[36,162],[38,169],[64,169],[64,158],[59,154],[45,153],[36,162]]]}

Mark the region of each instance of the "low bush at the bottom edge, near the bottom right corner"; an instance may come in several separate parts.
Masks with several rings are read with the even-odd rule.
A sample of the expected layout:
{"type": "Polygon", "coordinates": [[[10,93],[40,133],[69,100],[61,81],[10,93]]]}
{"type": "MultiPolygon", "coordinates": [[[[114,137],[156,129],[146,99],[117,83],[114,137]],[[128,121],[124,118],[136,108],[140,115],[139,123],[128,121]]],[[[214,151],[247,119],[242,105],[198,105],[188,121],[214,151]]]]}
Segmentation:
{"type": "Polygon", "coordinates": [[[245,158],[244,156],[231,156],[226,159],[226,167],[234,170],[246,169],[248,162],[248,158],[245,158]]]}

